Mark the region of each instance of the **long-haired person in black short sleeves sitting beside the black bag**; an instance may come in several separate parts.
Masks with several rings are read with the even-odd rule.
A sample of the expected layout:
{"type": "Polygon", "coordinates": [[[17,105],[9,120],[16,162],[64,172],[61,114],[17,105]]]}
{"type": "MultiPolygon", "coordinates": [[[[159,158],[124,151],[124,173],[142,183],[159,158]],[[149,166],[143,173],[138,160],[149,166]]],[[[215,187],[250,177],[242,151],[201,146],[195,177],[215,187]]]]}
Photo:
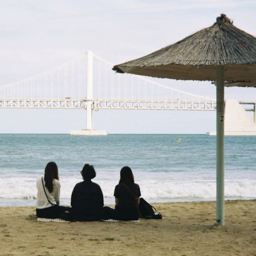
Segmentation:
{"type": "Polygon", "coordinates": [[[115,186],[115,209],[104,207],[104,213],[110,219],[123,221],[139,219],[139,185],[134,183],[134,175],[128,166],[120,171],[119,184],[115,186]]]}

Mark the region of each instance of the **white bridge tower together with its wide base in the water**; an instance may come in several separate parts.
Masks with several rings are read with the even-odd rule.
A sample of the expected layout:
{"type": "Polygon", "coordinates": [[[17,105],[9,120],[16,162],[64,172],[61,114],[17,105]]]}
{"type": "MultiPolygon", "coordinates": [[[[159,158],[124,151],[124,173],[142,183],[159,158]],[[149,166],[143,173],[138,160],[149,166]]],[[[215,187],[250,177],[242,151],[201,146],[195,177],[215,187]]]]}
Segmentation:
{"type": "Polygon", "coordinates": [[[106,130],[93,130],[93,52],[87,51],[86,129],[71,130],[71,135],[107,135],[106,130]]]}

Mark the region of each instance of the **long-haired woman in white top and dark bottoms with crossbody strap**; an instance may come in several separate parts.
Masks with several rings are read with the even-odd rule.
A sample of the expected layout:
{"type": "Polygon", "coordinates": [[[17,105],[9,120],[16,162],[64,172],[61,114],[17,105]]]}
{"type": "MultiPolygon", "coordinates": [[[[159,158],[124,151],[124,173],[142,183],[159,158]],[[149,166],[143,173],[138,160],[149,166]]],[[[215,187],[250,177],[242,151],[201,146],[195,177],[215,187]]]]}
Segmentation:
{"type": "Polygon", "coordinates": [[[60,183],[56,163],[49,162],[45,167],[44,178],[37,179],[37,217],[63,218],[69,207],[59,206],[60,183]]]}

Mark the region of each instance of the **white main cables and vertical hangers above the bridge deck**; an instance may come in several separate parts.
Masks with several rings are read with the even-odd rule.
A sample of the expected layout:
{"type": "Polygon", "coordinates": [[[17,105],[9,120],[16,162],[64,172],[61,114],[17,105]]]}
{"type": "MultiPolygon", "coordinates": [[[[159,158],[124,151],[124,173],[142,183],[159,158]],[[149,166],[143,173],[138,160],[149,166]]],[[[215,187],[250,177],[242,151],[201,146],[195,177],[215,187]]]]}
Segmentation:
{"type": "MultiPolygon", "coordinates": [[[[93,100],[179,100],[215,99],[171,88],[143,76],[117,74],[113,63],[93,54],[93,100]]],[[[87,54],[30,78],[0,86],[0,99],[7,100],[86,100],[87,54]]]]}

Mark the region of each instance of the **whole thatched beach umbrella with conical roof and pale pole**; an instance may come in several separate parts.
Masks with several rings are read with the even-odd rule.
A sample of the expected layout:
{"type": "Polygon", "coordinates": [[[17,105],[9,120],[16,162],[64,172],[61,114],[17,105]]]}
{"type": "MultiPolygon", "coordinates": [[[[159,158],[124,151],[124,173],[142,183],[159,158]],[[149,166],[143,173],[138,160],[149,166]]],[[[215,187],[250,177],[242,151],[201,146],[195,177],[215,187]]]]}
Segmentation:
{"type": "Polygon", "coordinates": [[[256,87],[256,37],[239,30],[226,15],[221,14],[209,28],[147,56],[115,65],[113,70],[158,78],[215,81],[216,222],[224,225],[224,81],[225,86],[256,87]]]}

